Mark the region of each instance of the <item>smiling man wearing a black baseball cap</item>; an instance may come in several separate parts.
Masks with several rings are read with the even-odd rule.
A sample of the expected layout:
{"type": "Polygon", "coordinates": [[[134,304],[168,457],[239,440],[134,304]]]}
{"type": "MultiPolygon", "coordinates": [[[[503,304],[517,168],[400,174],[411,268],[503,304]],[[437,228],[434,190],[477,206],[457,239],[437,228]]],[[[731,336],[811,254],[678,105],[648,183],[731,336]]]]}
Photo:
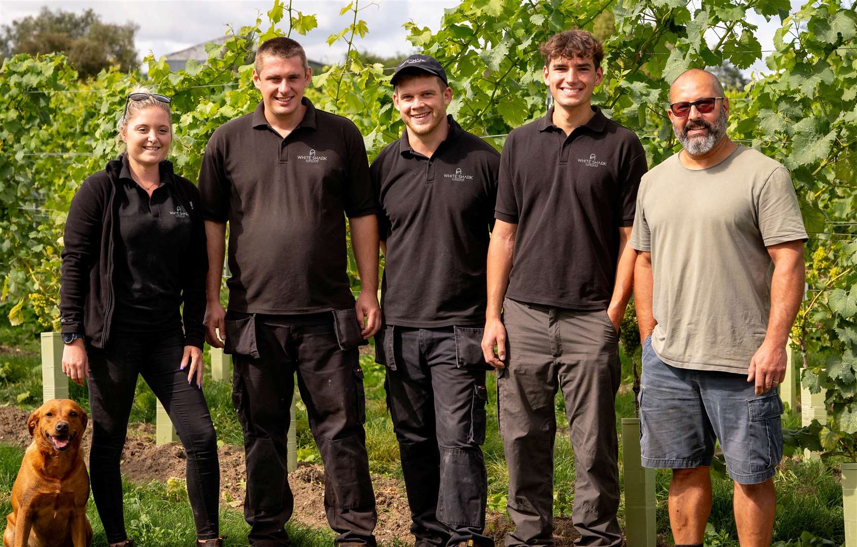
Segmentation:
{"type": "Polygon", "coordinates": [[[411,532],[418,546],[494,545],[482,534],[480,342],[500,154],[446,114],[452,89],[432,57],[408,57],[392,82],[405,131],[369,169],[387,257],[375,351],[387,366],[411,532]]]}

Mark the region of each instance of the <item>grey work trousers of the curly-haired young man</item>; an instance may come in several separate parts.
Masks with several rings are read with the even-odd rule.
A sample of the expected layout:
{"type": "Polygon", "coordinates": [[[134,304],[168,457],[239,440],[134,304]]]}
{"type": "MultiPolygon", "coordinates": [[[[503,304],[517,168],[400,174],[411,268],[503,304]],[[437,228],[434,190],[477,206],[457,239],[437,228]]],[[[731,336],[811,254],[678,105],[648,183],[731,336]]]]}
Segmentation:
{"type": "Polygon", "coordinates": [[[554,396],[562,389],[574,449],[572,521],[578,545],[622,544],[614,402],[619,336],[606,311],[506,299],[508,353],[497,380],[500,436],[509,467],[506,546],[553,545],[554,396]]]}

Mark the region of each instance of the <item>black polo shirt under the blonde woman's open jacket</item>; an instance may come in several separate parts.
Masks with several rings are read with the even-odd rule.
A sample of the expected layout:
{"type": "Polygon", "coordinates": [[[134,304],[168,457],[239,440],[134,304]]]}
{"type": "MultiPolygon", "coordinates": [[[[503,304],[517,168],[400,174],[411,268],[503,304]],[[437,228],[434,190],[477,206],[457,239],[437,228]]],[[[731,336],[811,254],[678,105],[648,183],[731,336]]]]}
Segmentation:
{"type": "Polygon", "coordinates": [[[192,225],[165,166],[152,197],[131,178],[122,155],[113,283],[114,333],[182,333],[182,289],[192,225]]]}

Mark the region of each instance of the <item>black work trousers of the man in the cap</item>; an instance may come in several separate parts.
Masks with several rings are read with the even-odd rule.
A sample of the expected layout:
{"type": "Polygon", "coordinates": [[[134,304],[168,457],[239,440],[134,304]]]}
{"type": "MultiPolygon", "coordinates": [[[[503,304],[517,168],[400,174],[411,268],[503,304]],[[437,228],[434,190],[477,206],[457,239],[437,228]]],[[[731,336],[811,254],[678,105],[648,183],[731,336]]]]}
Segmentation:
{"type": "Polygon", "coordinates": [[[387,325],[375,336],[418,546],[494,545],[482,534],[488,497],[480,448],[488,401],[482,331],[387,325]]]}

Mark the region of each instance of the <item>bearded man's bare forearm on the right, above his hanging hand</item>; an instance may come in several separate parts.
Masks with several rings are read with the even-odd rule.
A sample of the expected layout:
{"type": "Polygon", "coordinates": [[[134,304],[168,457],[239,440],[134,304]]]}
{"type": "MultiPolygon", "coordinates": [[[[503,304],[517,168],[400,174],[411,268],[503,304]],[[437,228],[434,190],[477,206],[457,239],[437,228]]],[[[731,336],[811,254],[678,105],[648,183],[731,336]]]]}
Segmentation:
{"type": "Polygon", "coordinates": [[[770,317],[764,336],[766,342],[783,346],[788,341],[788,333],[803,300],[805,273],[802,243],[798,248],[792,246],[782,249],[775,257],[774,274],[770,279],[770,317]]]}

